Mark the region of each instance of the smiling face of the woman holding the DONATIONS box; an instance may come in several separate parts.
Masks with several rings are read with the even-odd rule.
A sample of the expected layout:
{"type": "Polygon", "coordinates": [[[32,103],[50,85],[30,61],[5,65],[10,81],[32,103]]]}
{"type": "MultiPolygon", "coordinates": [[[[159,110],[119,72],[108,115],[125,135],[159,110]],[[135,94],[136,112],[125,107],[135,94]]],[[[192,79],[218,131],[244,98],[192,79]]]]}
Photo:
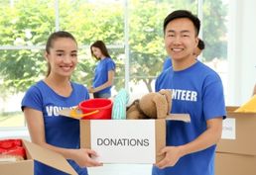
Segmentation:
{"type": "Polygon", "coordinates": [[[70,77],[77,63],[77,44],[69,38],[56,39],[46,59],[51,66],[50,74],[70,77]]]}

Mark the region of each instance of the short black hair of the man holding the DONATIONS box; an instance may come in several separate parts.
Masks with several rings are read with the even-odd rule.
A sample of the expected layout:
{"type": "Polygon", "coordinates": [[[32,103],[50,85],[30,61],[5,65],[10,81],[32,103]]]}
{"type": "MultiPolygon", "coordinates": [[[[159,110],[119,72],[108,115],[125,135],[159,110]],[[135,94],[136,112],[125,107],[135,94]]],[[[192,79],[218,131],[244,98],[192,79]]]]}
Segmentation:
{"type": "Polygon", "coordinates": [[[193,15],[192,12],[190,12],[188,10],[176,10],[176,11],[172,12],[171,14],[169,14],[164,21],[164,34],[166,33],[167,25],[171,21],[173,21],[175,19],[179,19],[179,18],[190,19],[194,26],[195,34],[196,34],[196,36],[198,36],[199,30],[200,30],[200,20],[195,15],[193,15]]]}

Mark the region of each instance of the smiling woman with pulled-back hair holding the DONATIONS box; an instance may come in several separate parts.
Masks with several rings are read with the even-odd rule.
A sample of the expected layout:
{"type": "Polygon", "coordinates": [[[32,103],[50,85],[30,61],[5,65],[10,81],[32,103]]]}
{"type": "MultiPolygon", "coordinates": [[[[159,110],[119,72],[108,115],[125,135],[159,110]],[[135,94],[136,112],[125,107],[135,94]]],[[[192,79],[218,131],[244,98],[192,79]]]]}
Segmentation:
{"type": "MultiPolygon", "coordinates": [[[[92,160],[96,152],[79,148],[79,122],[60,117],[64,108],[77,106],[89,98],[87,89],[70,81],[77,63],[77,44],[71,34],[53,33],[46,45],[48,73],[44,80],[33,85],[22,101],[30,136],[33,142],[64,155],[79,175],[87,175],[85,166],[98,166],[92,160]]],[[[54,168],[36,162],[36,175],[63,175],[54,168]]]]}

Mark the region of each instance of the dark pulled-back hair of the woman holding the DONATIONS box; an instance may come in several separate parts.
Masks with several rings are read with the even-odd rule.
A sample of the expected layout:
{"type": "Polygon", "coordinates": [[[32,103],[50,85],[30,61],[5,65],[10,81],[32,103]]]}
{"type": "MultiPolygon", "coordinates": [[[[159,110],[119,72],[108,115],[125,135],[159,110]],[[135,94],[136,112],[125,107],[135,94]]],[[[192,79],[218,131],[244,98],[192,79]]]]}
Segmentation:
{"type": "MultiPolygon", "coordinates": [[[[47,53],[50,53],[50,48],[53,46],[53,43],[57,39],[60,39],[60,38],[71,39],[73,42],[75,42],[75,44],[77,44],[75,39],[74,39],[74,37],[70,33],[67,33],[65,31],[58,31],[58,32],[52,33],[49,36],[47,44],[46,44],[46,51],[47,51],[47,53]]],[[[49,76],[50,72],[51,72],[51,65],[50,65],[50,63],[48,63],[47,76],[49,76]]]]}

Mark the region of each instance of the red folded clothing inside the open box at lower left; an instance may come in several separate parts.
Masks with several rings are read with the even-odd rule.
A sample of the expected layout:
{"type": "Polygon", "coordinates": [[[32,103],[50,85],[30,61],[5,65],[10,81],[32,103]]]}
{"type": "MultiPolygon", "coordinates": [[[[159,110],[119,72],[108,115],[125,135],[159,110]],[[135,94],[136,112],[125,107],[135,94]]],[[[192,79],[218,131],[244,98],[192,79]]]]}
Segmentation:
{"type": "Polygon", "coordinates": [[[18,161],[26,159],[26,150],[21,139],[0,140],[0,161],[18,161]]]}

